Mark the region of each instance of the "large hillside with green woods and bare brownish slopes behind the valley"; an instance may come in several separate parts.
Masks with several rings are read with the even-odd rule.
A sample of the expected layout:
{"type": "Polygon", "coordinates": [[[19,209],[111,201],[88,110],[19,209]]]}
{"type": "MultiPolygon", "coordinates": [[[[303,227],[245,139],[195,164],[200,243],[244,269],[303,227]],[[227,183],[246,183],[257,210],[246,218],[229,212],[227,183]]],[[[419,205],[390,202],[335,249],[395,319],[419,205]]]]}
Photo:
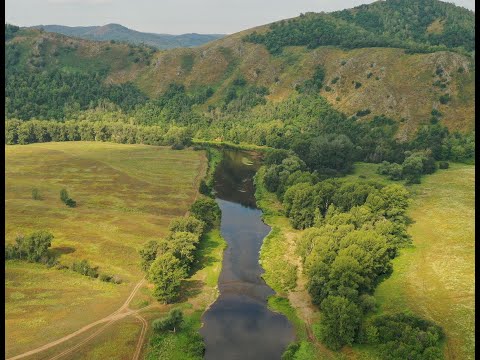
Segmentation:
{"type": "Polygon", "coordinates": [[[113,111],[189,126],[200,138],[280,147],[322,128],[315,123],[326,112],[355,122],[385,115],[401,141],[429,124],[474,129],[474,13],[436,0],[306,14],[196,48],[14,26],[5,40],[7,118],[113,111]]]}

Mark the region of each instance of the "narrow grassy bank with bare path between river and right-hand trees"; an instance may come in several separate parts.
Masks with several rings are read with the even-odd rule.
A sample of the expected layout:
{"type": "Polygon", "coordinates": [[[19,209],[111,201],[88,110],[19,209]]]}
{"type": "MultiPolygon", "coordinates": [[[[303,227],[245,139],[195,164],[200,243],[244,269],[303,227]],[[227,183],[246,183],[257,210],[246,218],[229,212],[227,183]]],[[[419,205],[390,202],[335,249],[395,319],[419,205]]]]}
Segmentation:
{"type": "Polygon", "coordinates": [[[259,261],[265,270],[262,277],[276,292],[268,299],[269,308],[284,314],[295,328],[295,343],[286,352],[298,347],[295,360],[345,358],[325,348],[314,335],[319,313],[311,303],[300,257],[295,254],[295,238],[301,231],[290,225],[276,195],[266,190],[264,172],[265,167],[261,167],[255,175],[255,197],[263,211],[263,221],[272,230],[263,241],[259,261]]]}

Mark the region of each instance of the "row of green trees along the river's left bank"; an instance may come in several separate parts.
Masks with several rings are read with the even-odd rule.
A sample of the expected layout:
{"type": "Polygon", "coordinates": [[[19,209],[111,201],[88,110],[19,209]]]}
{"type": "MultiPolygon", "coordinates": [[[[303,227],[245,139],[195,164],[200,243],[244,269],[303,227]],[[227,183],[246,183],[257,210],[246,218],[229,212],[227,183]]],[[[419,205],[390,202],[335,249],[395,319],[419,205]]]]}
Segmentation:
{"type": "Polygon", "coordinates": [[[178,298],[181,281],[191,270],[201,237],[220,215],[211,198],[196,200],[190,212],[192,216],[172,220],[165,239],[149,241],[139,252],[141,267],[155,285],[153,294],[164,303],[178,298]]]}

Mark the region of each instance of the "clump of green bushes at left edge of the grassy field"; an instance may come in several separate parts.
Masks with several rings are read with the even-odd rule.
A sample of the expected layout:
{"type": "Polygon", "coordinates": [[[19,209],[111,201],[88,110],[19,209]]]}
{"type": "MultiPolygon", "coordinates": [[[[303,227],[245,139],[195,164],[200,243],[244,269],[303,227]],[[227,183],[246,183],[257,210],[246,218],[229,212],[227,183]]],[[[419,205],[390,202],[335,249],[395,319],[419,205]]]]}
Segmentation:
{"type": "Polygon", "coordinates": [[[5,260],[18,259],[49,265],[55,261],[55,257],[48,251],[52,240],[53,235],[45,230],[35,231],[27,236],[19,235],[15,244],[5,246],[5,260]]]}

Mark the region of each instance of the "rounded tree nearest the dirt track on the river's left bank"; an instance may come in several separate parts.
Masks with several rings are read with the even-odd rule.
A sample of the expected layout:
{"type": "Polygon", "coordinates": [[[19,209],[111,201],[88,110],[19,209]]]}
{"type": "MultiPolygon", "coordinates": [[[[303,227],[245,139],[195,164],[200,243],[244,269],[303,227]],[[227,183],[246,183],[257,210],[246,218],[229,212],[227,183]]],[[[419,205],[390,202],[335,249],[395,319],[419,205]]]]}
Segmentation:
{"type": "Polygon", "coordinates": [[[186,276],[180,260],[170,252],[158,256],[148,270],[148,279],[154,284],[153,295],[165,304],[178,297],[181,281],[186,276]]]}

